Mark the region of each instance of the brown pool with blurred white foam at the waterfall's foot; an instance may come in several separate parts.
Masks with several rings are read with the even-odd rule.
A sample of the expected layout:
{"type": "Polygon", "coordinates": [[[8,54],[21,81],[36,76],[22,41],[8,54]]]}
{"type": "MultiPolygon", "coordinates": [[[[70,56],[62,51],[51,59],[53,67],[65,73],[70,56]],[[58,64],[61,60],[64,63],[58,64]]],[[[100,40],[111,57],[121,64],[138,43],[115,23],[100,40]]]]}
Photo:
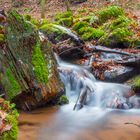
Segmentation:
{"type": "Polygon", "coordinates": [[[22,112],[18,140],[140,140],[140,111],[86,108],[78,112],[71,106],[22,112]]]}

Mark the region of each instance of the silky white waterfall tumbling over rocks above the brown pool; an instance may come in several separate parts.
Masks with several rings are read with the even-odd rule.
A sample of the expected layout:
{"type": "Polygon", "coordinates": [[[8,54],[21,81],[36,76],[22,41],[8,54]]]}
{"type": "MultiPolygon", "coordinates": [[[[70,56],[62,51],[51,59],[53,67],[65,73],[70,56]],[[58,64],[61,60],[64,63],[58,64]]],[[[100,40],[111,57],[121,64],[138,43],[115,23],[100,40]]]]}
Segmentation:
{"type": "MultiPolygon", "coordinates": [[[[66,63],[58,56],[56,59],[61,80],[66,88],[66,95],[70,103],[77,103],[78,109],[84,105],[118,109],[136,107],[132,101],[131,87],[97,81],[92,73],[82,66],[66,63]]],[[[137,100],[139,101],[139,98],[137,100]]]]}

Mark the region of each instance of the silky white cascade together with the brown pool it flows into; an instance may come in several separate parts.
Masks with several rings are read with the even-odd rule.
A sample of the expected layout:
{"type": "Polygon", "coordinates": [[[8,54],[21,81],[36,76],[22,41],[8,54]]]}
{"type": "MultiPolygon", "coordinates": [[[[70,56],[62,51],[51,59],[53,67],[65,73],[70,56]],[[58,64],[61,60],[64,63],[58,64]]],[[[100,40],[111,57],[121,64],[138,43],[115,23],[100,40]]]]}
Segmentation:
{"type": "Polygon", "coordinates": [[[69,104],[21,113],[19,140],[140,140],[140,128],[125,124],[140,122],[129,86],[103,83],[81,66],[57,62],[69,104]],[[73,110],[82,90],[86,100],[73,110]]]}

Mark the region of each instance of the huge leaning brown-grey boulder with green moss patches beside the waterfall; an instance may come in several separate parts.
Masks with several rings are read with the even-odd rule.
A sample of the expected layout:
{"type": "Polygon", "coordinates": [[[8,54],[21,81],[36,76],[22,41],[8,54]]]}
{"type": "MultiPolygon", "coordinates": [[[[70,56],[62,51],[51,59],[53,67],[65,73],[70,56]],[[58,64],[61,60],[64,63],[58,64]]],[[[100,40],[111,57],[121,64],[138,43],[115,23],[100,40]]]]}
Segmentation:
{"type": "Polygon", "coordinates": [[[6,44],[0,51],[0,83],[5,98],[32,110],[64,94],[52,44],[15,10],[7,14],[6,44]],[[54,86],[55,83],[55,86],[54,86]]]}

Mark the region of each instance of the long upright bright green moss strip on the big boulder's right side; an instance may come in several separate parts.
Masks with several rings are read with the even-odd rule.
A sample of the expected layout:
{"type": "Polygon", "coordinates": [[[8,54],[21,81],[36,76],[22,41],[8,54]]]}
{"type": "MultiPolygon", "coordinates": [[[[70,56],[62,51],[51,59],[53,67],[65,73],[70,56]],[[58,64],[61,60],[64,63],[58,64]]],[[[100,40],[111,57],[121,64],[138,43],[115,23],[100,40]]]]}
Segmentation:
{"type": "Polygon", "coordinates": [[[40,47],[40,43],[37,43],[34,47],[32,54],[32,64],[34,66],[34,73],[37,80],[46,84],[48,82],[48,69],[40,47]]]}

